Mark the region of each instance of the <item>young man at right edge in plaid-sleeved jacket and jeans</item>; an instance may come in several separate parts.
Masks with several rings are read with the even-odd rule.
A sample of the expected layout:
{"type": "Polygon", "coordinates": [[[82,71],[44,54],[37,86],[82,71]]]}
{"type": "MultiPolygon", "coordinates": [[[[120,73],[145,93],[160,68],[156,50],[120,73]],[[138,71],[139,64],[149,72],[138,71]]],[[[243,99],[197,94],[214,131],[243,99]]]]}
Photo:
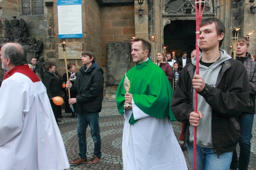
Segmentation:
{"type": "MultiPolygon", "coordinates": [[[[238,37],[236,44],[236,60],[243,63],[247,71],[250,83],[250,97],[247,99],[247,106],[239,116],[240,134],[239,139],[239,159],[236,149],[233,152],[230,169],[247,170],[250,161],[250,139],[252,136],[253,118],[255,115],[255,95],[256,95],[256,62],[251,60],[249,49],[249,40],[245,37],[238,37]],[[237,165],[238,163],[238,165],[237,165]]],[[[236,71],[237,73],[237,71],[236,71]]]]}

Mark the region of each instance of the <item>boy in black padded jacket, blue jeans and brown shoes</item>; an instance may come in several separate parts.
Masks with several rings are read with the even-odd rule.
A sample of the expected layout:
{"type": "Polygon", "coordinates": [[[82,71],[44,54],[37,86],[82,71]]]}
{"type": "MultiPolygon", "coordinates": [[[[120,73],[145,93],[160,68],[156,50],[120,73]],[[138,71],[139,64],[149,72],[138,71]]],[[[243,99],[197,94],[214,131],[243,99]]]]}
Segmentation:
{"type": "Polygon", "coordinates": [[[104,77],[103,69],[95,62],[95,52],[91,49],[82,51],[82,63],[84,66],[79,70],[74,86],[67,81],[66,87],[71,93],[75,93],[74,98],[69,99],[69,104],[77,104],[78,108],[78,143],[79,155],[69,164],[72,166],[87,162],[86,130],[89,125],[91,137],[94,142],[93,157],[87,165],[96,165],[101,159],[101,137],[99,126],[99,112],[102,108],[104,77]]]}

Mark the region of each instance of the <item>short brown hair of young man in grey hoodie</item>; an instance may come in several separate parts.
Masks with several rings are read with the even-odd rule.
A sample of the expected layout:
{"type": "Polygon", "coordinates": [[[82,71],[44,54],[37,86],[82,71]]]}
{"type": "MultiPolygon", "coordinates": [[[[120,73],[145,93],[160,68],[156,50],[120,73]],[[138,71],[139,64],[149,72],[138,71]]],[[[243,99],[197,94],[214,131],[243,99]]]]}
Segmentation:
{"type": "MultiPolygon", "coordinates": [[[[202,20],[201,24],[200,24],[200,27],[208,25],[208,24],[212,24],[213,22],[215,23],[215,26],[216,26],[217,35],[221,35],[221,33],[224,33],[224,37],[225,37],[224,23],[221,20],[217,19],[217,18],[206,18],[206,19],[202,20]]],[[[221,46],[221,44],[224,40],[224,37],[223,37],[222,40],[219,41],[219,47],[221,46]]]]}

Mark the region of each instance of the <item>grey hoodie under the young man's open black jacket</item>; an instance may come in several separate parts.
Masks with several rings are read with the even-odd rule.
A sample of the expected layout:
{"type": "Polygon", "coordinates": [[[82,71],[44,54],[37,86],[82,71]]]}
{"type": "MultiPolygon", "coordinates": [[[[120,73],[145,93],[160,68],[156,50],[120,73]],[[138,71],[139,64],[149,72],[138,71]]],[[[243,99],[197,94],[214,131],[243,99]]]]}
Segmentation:
{"type": "MultiPolygon", "coordinates": [[[[211,87],[216,87],[217,78],[219,71],[221,70],[221,63],[229,60],[230,55],[226,53],[223,49],[220,49],[221,57],[210,67],[203,66],[199,63],[199,75],[204,78],[204,82],[211,87]]],[[[199,60],[201,60],[202,54],[199,55],[199,60]]],[[[192,64],[196,65],[196,57],[192,59],[192,64]]],[[[195,97],[195,89],[193,89],[193,99],[195,97]]],[[[192,107],[194,108],[194,100],[192,100],[192,107]]],[[[213,108],[214,109],[214,108],[213,108]]],[[[197,145],[205,148],[212,148],[211,140],[211,107],[205,101],[205,99],[198,94],[198,104],[197,110],[202,112],[203,118],[200,119],[200,124],[197,126],[197,145]]],[[[194,141],[194,126],[189,126],[189,141],[194,141]]]]}

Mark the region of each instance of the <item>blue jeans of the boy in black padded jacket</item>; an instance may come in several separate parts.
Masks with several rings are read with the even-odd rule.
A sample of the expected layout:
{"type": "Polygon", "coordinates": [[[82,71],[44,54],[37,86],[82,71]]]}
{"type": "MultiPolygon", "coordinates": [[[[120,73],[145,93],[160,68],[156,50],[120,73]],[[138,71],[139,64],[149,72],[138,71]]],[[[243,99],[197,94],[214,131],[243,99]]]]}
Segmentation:
{"type": "Polygon", "coordinates": [[[91,128],[91,137],[94,142],[93,155],[101,157],[101,139],[100,139],[100,126],[99,126],[99,113],[79,113],[77,115],[77,135],[79,144],[79,156],[81,159],[87,159],[87,144],[86,144],[86,129],[89,124],[91,128]]]}

